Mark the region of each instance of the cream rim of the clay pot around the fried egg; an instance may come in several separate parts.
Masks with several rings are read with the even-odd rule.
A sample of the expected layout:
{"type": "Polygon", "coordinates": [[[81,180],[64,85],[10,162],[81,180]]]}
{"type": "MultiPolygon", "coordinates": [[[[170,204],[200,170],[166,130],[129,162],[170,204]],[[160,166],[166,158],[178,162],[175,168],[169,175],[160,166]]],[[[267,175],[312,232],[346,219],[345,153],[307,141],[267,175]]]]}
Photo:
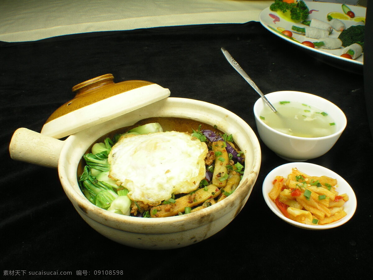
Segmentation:
{"type": "MultiPolygon", "coordinates": [[[[162,218],[147,219],[147,218],[141,218],[141,217],[124,216],[124,215],[112,213],[110,211],[107,211],[107,210],[104,210],[104,209],[101,209],[95,206],[87,198],[84,197],[82,192],[79,191],[78,193],[75,190],[75,188],[68,183],[68,179],[67,179],[68,174],[66,173],[66,170],[65,168],[63,168],[63,166],[69,165],[69,164],[71,165],[71,162],[65,159],[65,156],[63,156],[63,154],[68,153],[70,149],[70,144],[73,143],[74,138],[76,137],[75,135],[72,135],[72,136],[69,136],[68,139],[65,140],[66,143],[64,144],[61,150],[61,153],[60,153],[59,167],[58,167],[59,177],[60,177],[62,186],[66,194],[68,195],[68,197],[69,198],[71,197],[75,201],[75,203],[78,203],[79,207],[82,206],[83,209],[81,209],[81,211],[84,212],[91,219],[99,223],[102,223],[101,221],[104,220],[106,222],[106,225],[112,226],[112,227],[114,227],[115,225],[116,228],[118,229],[120,228],[121,230],[124,230],[124,231],[126,230],[131,231],[130,229],[126,229],[126,226],[131,226],[131,225],[134,227],[137,227],[139,225],[145,226],[149,231],[151,231],[151,229],[159,229],[161,227],[162,227],[162,231],[166,230],[167,228],[168,230],[171,231],[171,230],[174,230],[178,225],[187,226],[188,224],[195,223],[196,220],[201,220],[201,222],[206,222],[206,223],[211,222],[213,220],[211,217],[212,215],[216,214],[217,212],[223,211],[225,207],[229,206],[238,197],[247,196],[248,198],[248,196],[251,194],[251,191],[254,187],[254,184],[256,182],[256,179],[259,173],[260,162],[261,162],[260,144],[256,137],[256,134],[251,129],[251,127],[244,120],[242,120],[240,117],[235,115],[233,112],[228,111],[227,109],[222,108],[220,106],[210,104],[207,102],[198,101],[194,99],[174,98],[174,97],[168,97],[159,102],[173,102],[175,104],[177,104],[178,102],[182,102],[183,106],[198,106],[198,107],[203,106],[204,108],[208,107],[208,108],[213,109],[214,111],[219,111],[219,113],[221,113],[221,115],[224,117],[233,118],[237,124],[245,128],[245,133],[248,134],[250,141],[253,145],[253,150],[254,150],[253,159],[252,159],[253,169],[245,171],[239,186],[236,188],[233,194],[229,195],[228,197],[226,197],[224,200],[220,201],[219,203],[216,203],[210,207],[207,207],[206,209],[196,211],[193,213],[189,213],[187,215],[162,217],[162,218]],[[247,187],[250,188],[250,190],[247,191],[246,188],[242,188],[241,186],[243,184],[249,184],[247,187]]],[[[178,117],[178,116],[175,115],[175,117],[178,117]]],[[[141,119],[142,118],[138,119],[138,121],[141,119]]],[[[103,134],[105,134],[105,132],[103,134]]],[[[92,141],[95,141],[95,139],[93,139],[92,141]]],[[[76,163],[76,166],[77,166],[77,163],[76,163]]],[[[239,211],[242,209],[244,204],[245,203],[241,205],[241,207],[238,209],[236,214],[239,213],[239,211]]],[[[146,229],[144,230],[144,232],[146,232],[146,229]]]]}

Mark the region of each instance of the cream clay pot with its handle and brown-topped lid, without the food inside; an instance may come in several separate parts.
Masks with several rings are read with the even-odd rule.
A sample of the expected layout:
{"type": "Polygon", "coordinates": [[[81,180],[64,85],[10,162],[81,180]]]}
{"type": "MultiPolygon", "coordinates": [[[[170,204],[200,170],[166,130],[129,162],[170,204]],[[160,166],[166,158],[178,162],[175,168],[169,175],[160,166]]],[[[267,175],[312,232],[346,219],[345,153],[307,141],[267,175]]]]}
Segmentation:
{"type": "Polygon", "coordinates": [[[167,97],[169,90],[154,83],[114,83],[111,74],[76,85],[73,91],[76,97],[51,115],[41,133],[26,128],[16,130],[9,150],[15,160],[58,168],[69,200],[97,232],[136,248],[178,248],[223,229],[244,207],[258,176],[261,153],[253,130],[237,115],[207,102],[167,97]],[[105,111],[103,108],[106,114],[98,114],[105,111]],[[219,203],[175,217],[130,217],[92,204],[78,186],[77,170],[82,155],[103,135],[147,118],[160,118],[165,125],[175,118],[184,118],[217,125],[219,130],[232,134],[246,156],[239,187],[219,203]],[[65,140],[59,140],[65,136],[65,140]]]}

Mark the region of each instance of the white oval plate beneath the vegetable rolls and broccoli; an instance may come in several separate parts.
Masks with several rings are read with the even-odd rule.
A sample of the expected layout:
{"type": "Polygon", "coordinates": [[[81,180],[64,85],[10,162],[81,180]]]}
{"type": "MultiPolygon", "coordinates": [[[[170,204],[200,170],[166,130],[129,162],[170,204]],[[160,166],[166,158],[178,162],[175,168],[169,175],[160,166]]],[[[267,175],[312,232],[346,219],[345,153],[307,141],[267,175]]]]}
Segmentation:
{"type": "MultiPolygon", "coordinates": [[[[326,16],[327,16],[328,13],[330,13],[330,12],[343,13],[342,4],[323,3],[323,2],[309,2],[309,1],[307,1],[305,3],[307,4],[308,9],[310,11],[312,10],[312,12],[308,16],[307,20],[311,20],[313,18],[316,18],[316,19],[322,20],[324,22],[327,22],[326,16]]],[[[366,7],[359,7],[359,6],[352,6],[352,5],[347,5],[347,6],[352,10],[352,12],[355,13],[355,17],[358,17],[358,16],[364,16],[365,17],[366,7]]],[[[282,39],[284,39],[288,42],[291,42],[292,44],[295,44],[299,47],[304,48],[305,51],[316,52],[318,54],[326,55],[326,56],[328,56],[329,58],[332,58],[332,59],[335,58],[336,60],[339,60],[338,62],[343,63],[344,67],[346,67],[346,68],[348,68],[348,66],[351,65],[351,64],[357,64],[357,65],[361,65],[361,66],[363,65],[364,54],[360,55],[360,57],[356,58],[355,60],[352,60],[352,59],[349,59],[349,58],[340,57],[340,55],[342,54],[343,47],[341,47],[339,49],[335,49],[335,50],[325,50],[325,49],[319,49],[319,48],[310,48],[310,47],[307,47],[307,46],[301,44],[301,42],[303,42],[303,41],[317,42],[318,40],[317,39],[312,39],[312,38],[307,38],[303,35],[300,35],[300,34],[297,34],[296,32],[293,32],[291,30],[292,25],[296,25],[296,26],[300,26],[300,27],[305,27],[306,25],[304,25],[300,22],[298,22],[298,23],[289,22],[289,21],[279,17],[278,14],[276,12],[271,11],[269,9],[269,7],[267,7],[263,11],[261,11],[261,13],[259,15],[259,20],[260,20],[260,23],[266,29],[268,29],[270,32],[272,32],[276,36],[279,36],[280,38],[282,38],[282,39]],[[271,14],[272,14],[272,16],[273,15],[277,16],[279,19],[272,18],[270,16],[271,14]],[[292,31],[293,38],[296,41],[293,40],[293,39],[290,39],[288,36],[283,35],[278,30],[278,28],[284,28],[285,30],[292,31]]],[[[349,28],[350,26],[355,25],[357,23],[354,20],[342,20],[342,22],[345,23],[346,28],[349,28]]],[[[329,37],[338,38],[340,33],[341,32],[333,30],[332,34],[330,34],[329,37]]]]}

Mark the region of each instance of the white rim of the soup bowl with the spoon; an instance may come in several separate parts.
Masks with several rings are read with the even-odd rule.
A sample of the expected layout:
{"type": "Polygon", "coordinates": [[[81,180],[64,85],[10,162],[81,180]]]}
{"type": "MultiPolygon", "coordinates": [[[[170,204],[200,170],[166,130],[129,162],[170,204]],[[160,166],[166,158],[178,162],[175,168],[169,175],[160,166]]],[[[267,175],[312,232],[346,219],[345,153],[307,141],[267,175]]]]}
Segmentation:
{"type": "MultiPolygon", "coordinates": [[[[321,96],[318,96],[318,95],[314,95],[312,93],[307,93],[307,92],[300,92],[300,91],[293,91],[293,90],[282,90],[282,91],[276,91],[276,92],[271,92],[271,93],[267,93],[266,95],[266,98],[268,99],[269,102],[271,102],[271,97],[274,96],[274,95],[281,95],[281,93],[284,93],[284,92],[291,92],[291,93],[294,93],[294,94],[297,94],[299,96],[301,95],[307,95],[307,96],[311,96],[312,98],[317,98],[317,99],[320,99],[322,100],[323,102],[329,104],[330,106],[333,106],[336,111],[339,112],[339,114],[341,114],[341,122],[342,122],[342,125],[341,127],[333,134],[330,134],[330,135],[327,135],[327,136],[323,136],[323,137],[300,137],[300,136],[294,136],[294,135],[289,135],[289,134],[286,134],[286,133],[282,133],[278,130],[275,130],[274,128],[270,127],[269,125],[267,125],[265,122],[263,122],[261,119],[260,119],[260,112],[258,112],[258,106],[259,106],[259,103],[260,102],[263,102],[263,99],[262,98],[259,98],[255,104],[254,104],[254,116],[256,118],[257,121],[260,121],[262,122],[270,131],[272,131],[273,133],[276,133],[276,134],[279,134],[279,135],[282,135],[282,136],[286,136],[286,137],[289,137],[290,139],[307,139],[309,141],[316,141],[316,140],[320,140],[320,139],[329,139],[329,138],[333,138],[335,136],[338,136],[340,134],[342,134],[342,132],[345,130],[346,126],[347,126],[347,118],[346,118],[346,115],[344,114],[344,112],[337,106],[335,105],[333,102],[330,102],[329,100],[325,99],[325,98],[322,98],[321,96]]],[[[301,101],[293,101],[293,102],[301,102],[301,101]]],[[[273,103],[271,102],[271,104],[273,105],[273,103]]],[[[317,107],[313,104],[309,104],[310,106],[314,106],[314,107],[317,107]]],[[[267,106],[267,105],[265,105],[267,106]]],[[[273,105],[275,106],[275,105],[273,105]]],[[[276,106],[275,106],[276,108],[276,106]]],[[[322,109],[322,108],[320,108],[322,109]]],[[[339,121],[339,119],[338,119],[339,121]]]]}

